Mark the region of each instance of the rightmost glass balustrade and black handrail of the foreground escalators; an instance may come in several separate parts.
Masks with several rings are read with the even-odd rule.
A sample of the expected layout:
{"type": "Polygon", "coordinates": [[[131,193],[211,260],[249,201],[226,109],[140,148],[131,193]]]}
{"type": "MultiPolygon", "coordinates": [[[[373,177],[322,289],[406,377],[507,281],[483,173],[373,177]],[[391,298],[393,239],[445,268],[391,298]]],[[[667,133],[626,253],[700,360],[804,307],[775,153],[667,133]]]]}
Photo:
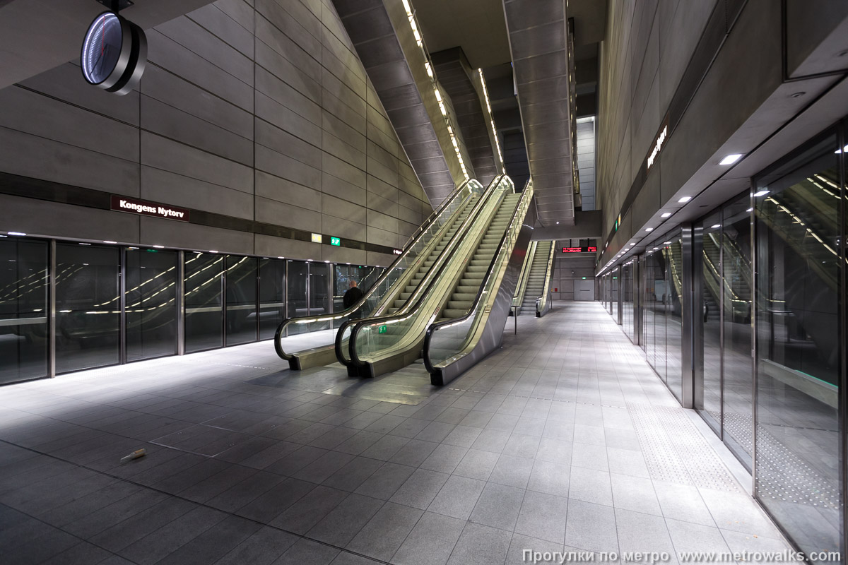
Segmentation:
{"type": "Polygon", "coordinates": [[[468,311],[427,328],[423,357],[432,385],[446,385],[499,347],[533,229],[526,221],[532,200],[528,181],[468,311]]]}

